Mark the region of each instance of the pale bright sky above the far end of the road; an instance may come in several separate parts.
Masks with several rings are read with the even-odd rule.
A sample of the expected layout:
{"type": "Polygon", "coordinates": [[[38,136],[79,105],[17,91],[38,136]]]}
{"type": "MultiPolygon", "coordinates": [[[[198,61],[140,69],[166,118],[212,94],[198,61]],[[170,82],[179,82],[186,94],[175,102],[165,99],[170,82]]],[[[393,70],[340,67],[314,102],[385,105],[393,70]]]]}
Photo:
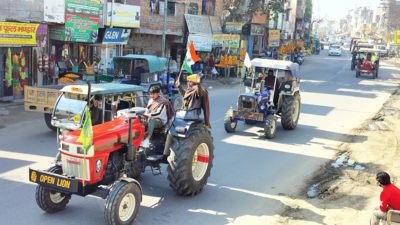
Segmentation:
{"type": "Polygon", "coordinates": [[[347,15],[355,6],[372,6],[375,10],[381,1],[379,0],[313,0],[313,19],[322,18],[336,20],[347,15]]]}

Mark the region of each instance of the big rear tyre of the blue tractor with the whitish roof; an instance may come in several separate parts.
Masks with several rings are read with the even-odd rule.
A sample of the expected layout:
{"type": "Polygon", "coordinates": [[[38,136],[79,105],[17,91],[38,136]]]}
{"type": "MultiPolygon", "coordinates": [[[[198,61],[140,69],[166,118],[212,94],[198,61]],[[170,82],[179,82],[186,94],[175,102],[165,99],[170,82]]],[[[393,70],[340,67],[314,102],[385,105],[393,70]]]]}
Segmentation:
{"type": "Polygon", "coordinates": [[[301,99],[299,92],[293,96],[284,96],[281,123],[285,130],[294,130],[300,118],[301,99]]]}

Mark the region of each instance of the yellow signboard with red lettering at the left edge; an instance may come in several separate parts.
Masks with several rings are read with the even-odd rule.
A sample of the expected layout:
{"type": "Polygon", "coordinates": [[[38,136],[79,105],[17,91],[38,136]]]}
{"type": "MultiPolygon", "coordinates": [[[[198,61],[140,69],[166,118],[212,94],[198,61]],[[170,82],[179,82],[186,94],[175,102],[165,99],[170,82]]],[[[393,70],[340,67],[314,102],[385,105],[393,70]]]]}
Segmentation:
{"type": "Polygon", "coordinates": [[[0,22],[0,46],[20,47],[47,45],[47,25],[0,22]]]}

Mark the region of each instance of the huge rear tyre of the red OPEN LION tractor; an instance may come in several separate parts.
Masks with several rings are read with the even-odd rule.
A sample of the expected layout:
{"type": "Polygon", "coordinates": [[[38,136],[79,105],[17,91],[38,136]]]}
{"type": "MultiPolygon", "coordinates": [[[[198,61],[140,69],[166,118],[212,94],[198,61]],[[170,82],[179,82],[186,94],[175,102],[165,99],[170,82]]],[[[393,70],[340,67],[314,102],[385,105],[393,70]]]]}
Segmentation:
{"type": "Polygon", "coordinates": [[[187,138],[174,137],[171,150],[175,154],[175,168],[167,167],[169,186],[179,195],[197,195],[207,184],[213,166],[211,132],[205,127],[194,127],[187,138]]]}

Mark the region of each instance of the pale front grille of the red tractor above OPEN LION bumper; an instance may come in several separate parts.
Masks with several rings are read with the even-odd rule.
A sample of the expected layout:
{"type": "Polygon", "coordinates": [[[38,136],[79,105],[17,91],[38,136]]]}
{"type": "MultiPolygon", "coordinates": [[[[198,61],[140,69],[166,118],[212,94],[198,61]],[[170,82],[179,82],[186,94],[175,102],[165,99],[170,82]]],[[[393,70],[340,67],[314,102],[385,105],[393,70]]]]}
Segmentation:
{"type": "MultiPolygon", "coordinates": [[[[77,179],[82,179],[83,176],[83,159],[74,158],[71,156],[61,155],[63,173],[68,176],[75,176],[77,179]]],[[[89,160],[86,159],[85,180],[90,180],[89,160]]]]}

